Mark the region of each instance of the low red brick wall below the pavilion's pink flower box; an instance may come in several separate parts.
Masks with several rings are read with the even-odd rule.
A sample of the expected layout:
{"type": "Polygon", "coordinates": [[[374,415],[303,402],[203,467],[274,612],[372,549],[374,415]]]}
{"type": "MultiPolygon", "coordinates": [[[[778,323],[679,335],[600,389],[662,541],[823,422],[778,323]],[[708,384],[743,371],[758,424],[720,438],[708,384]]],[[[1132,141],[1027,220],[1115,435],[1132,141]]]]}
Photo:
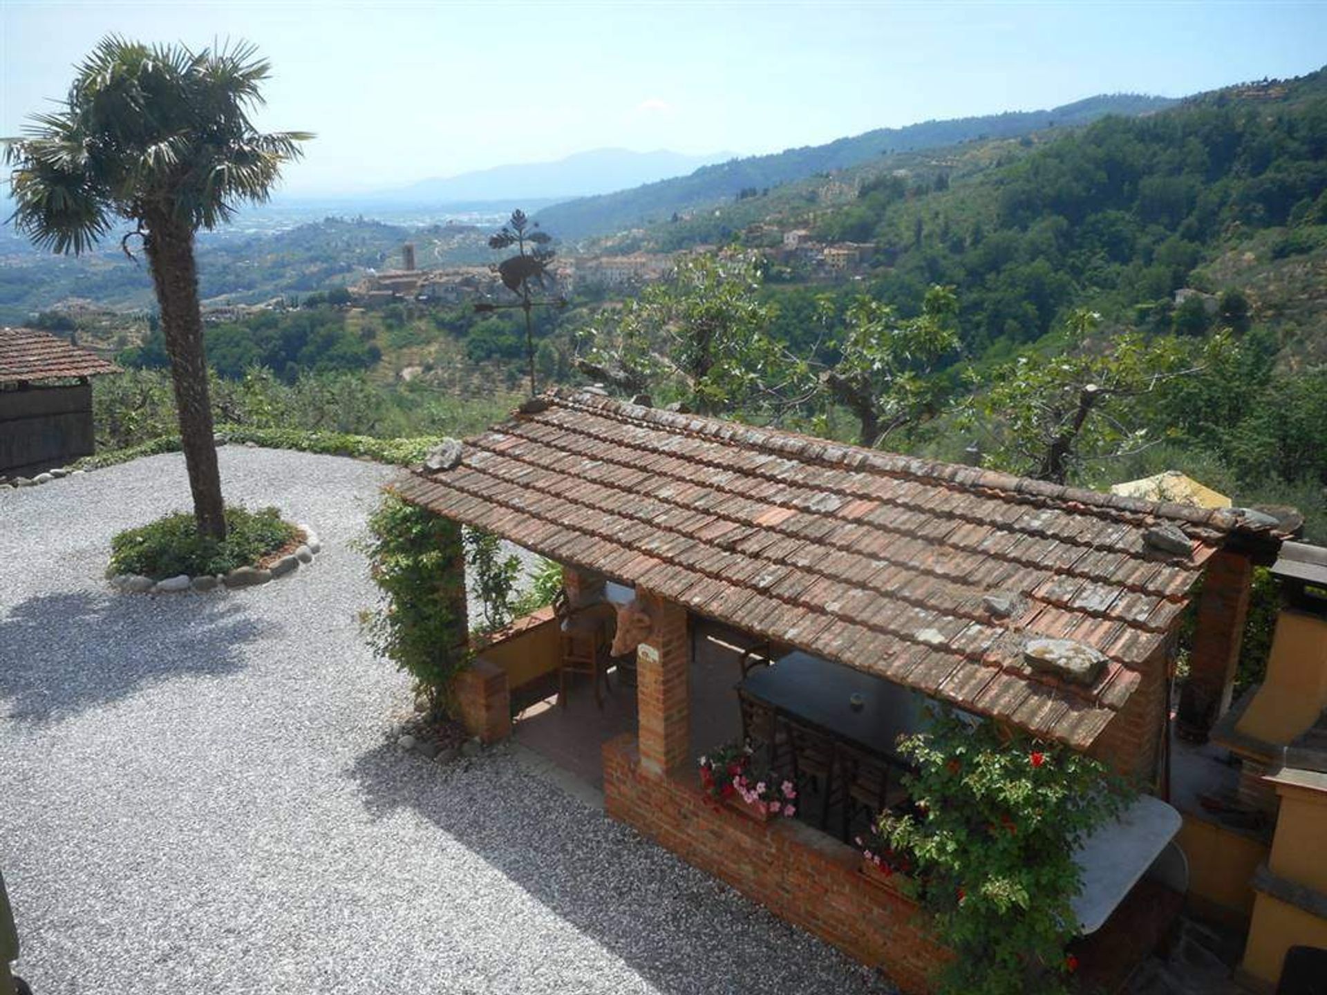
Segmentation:
{"type": "Polygon", "coordinates": [[[912,901],[863,878],[851,846],[791,819],[760,824],[715,811],[693,771],[644,769],[630,735],[604,744],[604,808],[779,918],[881,968],[909,995],[930,990],[943,949],[912,901]]]}

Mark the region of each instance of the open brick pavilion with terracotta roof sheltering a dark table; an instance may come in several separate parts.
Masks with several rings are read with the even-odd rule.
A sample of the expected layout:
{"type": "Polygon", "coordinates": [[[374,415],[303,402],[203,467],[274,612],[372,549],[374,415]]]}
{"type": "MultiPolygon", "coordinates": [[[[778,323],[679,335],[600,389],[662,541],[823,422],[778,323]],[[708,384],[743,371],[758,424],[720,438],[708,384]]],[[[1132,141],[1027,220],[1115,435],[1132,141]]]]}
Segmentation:
{"type": "Polygon", "coordinates": [[[471,730],[512,734],[512,702],[559,667],[575,612],[616,602],[616,687],[569,707],[581,730],[626,708],[625,730],[605,719],[594,744],[608,813],[904,991],[926,991],[946,954],[905,894],[863,874],[847,816],[756,821],[702,792],[697,756],[750,732],[752,708],[886,771],[905,765],[889,744],[936,703],[1097,758],[1145,797],[1085,848],[1085,943],[1121,950],[1121,930],[1148,921],[1145,946],[1164,927],[1149,910],[1182,902],[1165,804],[1181,616],[1205,578],[1190,667],[1217,690],[1192,715],[1210,727],[1275,523],[591,391],[532,398],[434,466],[395,491],[564,565],[560,609],[519,622],[458,682],[471,730]]]}

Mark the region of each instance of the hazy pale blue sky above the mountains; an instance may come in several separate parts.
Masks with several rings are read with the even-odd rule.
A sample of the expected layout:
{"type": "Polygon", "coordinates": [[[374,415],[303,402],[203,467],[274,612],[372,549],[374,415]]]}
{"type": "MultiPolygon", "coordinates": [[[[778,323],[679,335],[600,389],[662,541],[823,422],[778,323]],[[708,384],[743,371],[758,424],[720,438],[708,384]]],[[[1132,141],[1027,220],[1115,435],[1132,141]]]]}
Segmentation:
{"type": "Polygon", "coordinates": [[[742,154],[881,126],[1182,96],[1327,60],[1327,3],[60,3],[0,0],[0,134],[107,32],[256,42],[292,194],[604,146],[742,154]]]}

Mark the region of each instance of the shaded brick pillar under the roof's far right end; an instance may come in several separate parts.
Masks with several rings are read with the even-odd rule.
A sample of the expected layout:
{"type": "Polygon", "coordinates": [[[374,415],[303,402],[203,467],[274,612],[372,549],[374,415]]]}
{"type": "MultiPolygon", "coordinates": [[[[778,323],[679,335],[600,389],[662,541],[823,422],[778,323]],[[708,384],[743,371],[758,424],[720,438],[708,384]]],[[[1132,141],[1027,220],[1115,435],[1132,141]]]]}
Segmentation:
{"type": "Polygon", "coordinates": [[[1176,731],[1184,739],[1205,743],[1212,726],[1230,707],[1251,582],[1253,561],[1247,556],[1222,551],[1208,563],[1189,679],[1180,694],[1176,731]]]}

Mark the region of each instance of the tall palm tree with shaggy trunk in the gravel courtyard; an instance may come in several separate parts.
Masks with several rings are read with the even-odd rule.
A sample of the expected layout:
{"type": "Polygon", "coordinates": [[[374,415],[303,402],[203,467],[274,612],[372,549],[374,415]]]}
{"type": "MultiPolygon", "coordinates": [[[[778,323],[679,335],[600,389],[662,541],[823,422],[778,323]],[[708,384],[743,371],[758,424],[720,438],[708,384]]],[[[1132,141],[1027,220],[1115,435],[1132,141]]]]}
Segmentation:
{"type": "Polygon", "coordinates": [[[69,96],[5,139],[13,216],[42,248],[82,253],[123,219],[142,239],[171,364],[180,442],[202,535],[226,536],[222,479],[207,397],[194,233],[215,228],[243,200],[268,199],[281,163],[300,157],[300,131],[261,134],[268,64],[252,45],[191,52],[118,36],[98,42],[69,96]]]}

